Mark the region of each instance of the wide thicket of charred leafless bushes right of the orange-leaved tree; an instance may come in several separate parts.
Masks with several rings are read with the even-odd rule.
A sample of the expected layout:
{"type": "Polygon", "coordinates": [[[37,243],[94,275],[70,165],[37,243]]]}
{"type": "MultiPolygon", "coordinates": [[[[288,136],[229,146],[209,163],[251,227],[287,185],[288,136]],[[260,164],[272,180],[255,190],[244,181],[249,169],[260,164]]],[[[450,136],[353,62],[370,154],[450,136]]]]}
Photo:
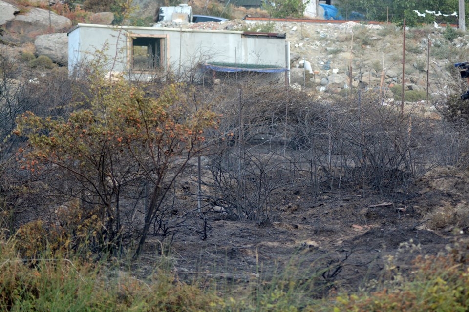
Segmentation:
{"type": "Polygon", "coordinates": [[[232,96],[220,106],[221,132],[232,136],[211,167],[214,197],[225,200],[237,218],[260,217],[253,207],[267,200],[246,204],[246,198],[273,194],[275,187],[265,181],[260,183],[263,193],[257,191],[256,183],[266,177],[271,186],[307,186],[316,194],[324,188],[358,187],[405,199],[415,179],[435,166],[460,161],[467,145],[446,122],[384,105],[373,93],[314,101],[278,86],[237,87],[226,91],[232,96]],[[274,168],[275,175],[266,176],[274,168]]]}

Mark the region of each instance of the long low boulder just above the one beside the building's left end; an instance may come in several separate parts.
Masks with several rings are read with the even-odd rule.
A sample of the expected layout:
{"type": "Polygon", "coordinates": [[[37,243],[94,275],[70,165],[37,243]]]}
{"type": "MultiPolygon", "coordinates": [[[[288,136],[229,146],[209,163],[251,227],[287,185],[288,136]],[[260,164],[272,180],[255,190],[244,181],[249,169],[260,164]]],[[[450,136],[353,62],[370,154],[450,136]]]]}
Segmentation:
{"type": "Polygon", "coordinates": [[[32,8],[24,15],[17,15],[14,21],[37,29],[50,27],[54,31],[66,30],[72,26],[70,19],[39,8],[32,8]]]}

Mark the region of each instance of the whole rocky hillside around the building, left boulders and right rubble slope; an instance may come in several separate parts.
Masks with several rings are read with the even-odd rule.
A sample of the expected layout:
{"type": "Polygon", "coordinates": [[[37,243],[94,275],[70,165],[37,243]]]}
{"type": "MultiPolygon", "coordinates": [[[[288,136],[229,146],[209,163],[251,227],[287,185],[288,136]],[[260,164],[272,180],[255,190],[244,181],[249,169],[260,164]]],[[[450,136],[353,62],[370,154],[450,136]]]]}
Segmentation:
{"type": "MultiPolygon", "coordinates": [[[[137,2],[145,8],[140,14],[154,15],[156,8],[150,7],[149,1],[137,2]]],[[[2,54],[13,58],[20,58],[24,53],[45,55],[55,64],[66,66],[66,33],[73,23],[80,21],[78,14],[54,6],[55,11],[67,18],[49,11],[47,1],[28,3],[31,5],[25,6],[24,1],[0,1],[2,54]]],[[[81,14],[91,23],[111,24],[114,19],[110,12],[81,14]]],[[[306,90],[347,92],[350,69],[353,87],[383,87],[388,98],[392,98],[392,90],[396,92],[402,83],[404,34],[395,25],[235,19],[225,23],[160,26],[286,33],[291,46],[291,81],[306,90]]],[[[466,61],[468,49],[469,36],[454,28],[430,25],[407,29],[404,82],[405,90],[413,91],[410,100],[426,98],[427,81],[432,100],[444,96],[459,80],[453,63],[466,61]]]]}

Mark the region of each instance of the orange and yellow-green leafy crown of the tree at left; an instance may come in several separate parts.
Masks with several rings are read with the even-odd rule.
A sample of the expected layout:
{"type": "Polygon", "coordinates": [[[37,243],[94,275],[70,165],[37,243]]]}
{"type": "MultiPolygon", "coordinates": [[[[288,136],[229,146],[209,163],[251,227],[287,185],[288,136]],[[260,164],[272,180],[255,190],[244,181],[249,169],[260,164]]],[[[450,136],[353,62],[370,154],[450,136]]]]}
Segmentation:
{"type": "Polygon", "coordinates": [[[30,145],[24,168],[93,162],[104,150],[114,157],[155,156],[162,151],[176,155],[200,147],[206,130],[216,128],[217,115],[192,108],[187,86],[181,83],[166,85],[154,96],[125,81],[91,91],[87,103],[77,103],[86,108],[66,120],[31,112],[17,119],[15,134],[27,137],[30,145]]]}

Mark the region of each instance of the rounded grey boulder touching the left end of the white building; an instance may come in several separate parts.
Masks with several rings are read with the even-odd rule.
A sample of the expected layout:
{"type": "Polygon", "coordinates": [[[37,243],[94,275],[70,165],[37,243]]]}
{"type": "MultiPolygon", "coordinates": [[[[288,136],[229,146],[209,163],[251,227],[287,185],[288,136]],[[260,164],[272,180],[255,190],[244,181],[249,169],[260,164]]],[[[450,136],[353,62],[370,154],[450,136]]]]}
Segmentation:
{"type": "Polygon", "coordinates": [[[66,33],[37,36],[34,46],[38,56],[48,56],[54,63],[62,66],[68,64],[68,36],[66,33]]]}

